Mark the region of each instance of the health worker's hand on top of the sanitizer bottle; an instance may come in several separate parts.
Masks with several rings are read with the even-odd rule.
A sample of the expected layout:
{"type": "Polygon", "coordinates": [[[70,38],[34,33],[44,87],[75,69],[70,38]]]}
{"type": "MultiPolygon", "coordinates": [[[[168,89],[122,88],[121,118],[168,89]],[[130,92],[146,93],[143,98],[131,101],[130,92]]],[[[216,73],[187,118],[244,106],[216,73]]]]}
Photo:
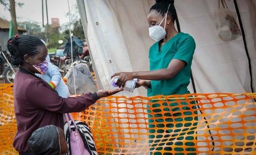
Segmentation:
{"type": "Polygon", "coordinates": [[[111,78],[115,77],[115,76],[119,76],[119,78],[117,79],[117,85],[119,88],[124,88],[125,83],[128,80],[133,80],[133,78],[135,78],[135,73],[134,72],[117,72],[114,73],[111,78]]]}

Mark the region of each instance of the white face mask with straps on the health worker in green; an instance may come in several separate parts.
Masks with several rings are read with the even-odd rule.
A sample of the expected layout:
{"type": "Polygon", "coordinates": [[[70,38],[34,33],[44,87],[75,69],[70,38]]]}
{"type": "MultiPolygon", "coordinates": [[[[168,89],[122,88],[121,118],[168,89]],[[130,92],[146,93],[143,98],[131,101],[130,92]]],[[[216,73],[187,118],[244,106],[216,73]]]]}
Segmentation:
{"type": "Polygon", "coordinates": [[[163,39],[166,36],[166,31],[165,28],[163,28],[162,26],[160,26],[162,24],[162,22],[165,19],[165,25],[166,25],[166,18],[167,18],[167,13],[169,10],[171,4],[169,4],[167,12],[165,14],[165,17],[163,18],[163,20],[160,22],[159,25],[155,25],[155,26],[151,26],[149,27],[149,36],[154,39],[155,41],[160,41],[161,39],[163,39]]]}

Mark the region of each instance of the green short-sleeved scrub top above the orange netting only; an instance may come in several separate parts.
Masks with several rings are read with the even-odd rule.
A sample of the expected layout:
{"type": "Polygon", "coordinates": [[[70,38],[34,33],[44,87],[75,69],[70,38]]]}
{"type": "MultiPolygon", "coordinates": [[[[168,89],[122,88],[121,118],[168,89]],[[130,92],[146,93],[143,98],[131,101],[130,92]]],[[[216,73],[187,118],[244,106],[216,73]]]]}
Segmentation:
{"type": "Polygon", "coordinates": [[[172,59],[186,62],[186,66],[169,80],[151,80],[151,88],[148,88],[148,96],[188,94],[190,72],[193,54],[196,44],[192,36],[186,33],[178,33],[167,41],[159,51],[159,41],[149,49],[150,71],[167,68],[172,59]]]}

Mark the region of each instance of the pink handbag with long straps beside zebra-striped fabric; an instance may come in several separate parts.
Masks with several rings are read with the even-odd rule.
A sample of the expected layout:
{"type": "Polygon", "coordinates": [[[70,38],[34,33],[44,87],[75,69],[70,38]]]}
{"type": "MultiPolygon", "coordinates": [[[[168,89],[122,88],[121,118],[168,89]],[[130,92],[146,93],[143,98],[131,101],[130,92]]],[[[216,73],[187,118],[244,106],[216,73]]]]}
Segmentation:
{"type": "Polygon", "coordinates": [[[71,116],[71,114],[65,114],[65,117],[67,119],[67,123],[69,126],[69,134],[70,134],[70,141],[69,141],[69,155],[90,155],[88,150],[85,148],[84,142],[80,136],[80,133],[78,131],[77,125],[75,123],[75,120],[71,116]],[[70,127],[70,119],[75,125],[75,131],[71,130],[70,127]]]}

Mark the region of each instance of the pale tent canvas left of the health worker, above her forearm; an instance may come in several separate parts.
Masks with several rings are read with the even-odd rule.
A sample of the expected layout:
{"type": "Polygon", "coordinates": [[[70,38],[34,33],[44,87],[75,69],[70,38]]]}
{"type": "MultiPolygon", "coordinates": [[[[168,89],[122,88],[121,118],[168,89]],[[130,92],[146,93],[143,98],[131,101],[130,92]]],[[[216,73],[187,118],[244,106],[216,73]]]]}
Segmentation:
{"type": "MultiPolygon", "coordinates": [[[[153,1],[151,4],[147,2],[146,7],[145,1],[85,0],[88,20],[88,42],[96,64],[94,68],[97,69],[98,77],[100,78],[97,80],[101,81],[102,88],[109,88],[110,77],[114,72],[133,71],[135,68],[138,70],[148,68],[148,60],[145,56],[147,55],[149,43],[145,40],[138,40],[138,38],[142,38],[142,35],[145,36],[145,33],[141,33],[140,30],[147,27],[147,25],[142,25],[141,23],[137,24],[139,27],[134,25],[128,26],[129,24],[125,26],[120,25],[120,23],[125,23],[122,20],[130,20],[129,16],[131,14],[123,9],[128,5],[128,8],[133,8],[134,2],[137,3],[136,10],[149,8],[153,4],[153,1]],[[118,11],[120,13],[117,13],[118,11]],[[123,33],[123,31],[126,31],[126,33],[123,33]],[[135,33],[136,31],[138,34],[135,33]],[[133,45],[127,47],[127,44],[130,43],[133,45]],[[136,59],[138,57],[142,57],[142,59],[136,59]],[[131,63],[131,61],[133,62],[131,63]]],[[[147,11],[144,9],[143,15],[138,15],[137,19],[144,19],[143,22],[145,23],[146,14],[147,11]]],[[[134,16],[136,15],[134,14],[134,16]]],[[[128,23],[132,23],[132,21],[128,23]]],[[[122,95],[126,96],[136,96],[138,94],[137,90],[133,93],[122,93],[122,95]]]]}

